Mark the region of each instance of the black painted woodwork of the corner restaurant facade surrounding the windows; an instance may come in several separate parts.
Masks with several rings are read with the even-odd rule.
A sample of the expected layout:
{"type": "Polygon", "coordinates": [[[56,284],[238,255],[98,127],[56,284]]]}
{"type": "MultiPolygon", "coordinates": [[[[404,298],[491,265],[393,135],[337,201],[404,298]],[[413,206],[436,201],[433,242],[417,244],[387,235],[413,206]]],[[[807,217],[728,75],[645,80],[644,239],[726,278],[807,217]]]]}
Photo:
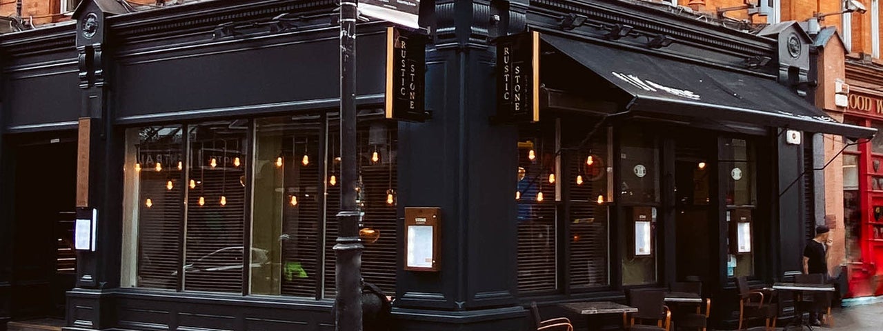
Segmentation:
{"type": "MultiPolygon", "coordinates": [[[[80,176],[88,174],[88,190],[78,197],[78,204],[85,201],[84,206],[97,208],[102,222],[98,229],[100,248],[79,252],[77,286],[67,293],[65,329],[334,329],[331,300],[121,288],[119,249],[123,244],[119,233],[123,227],[125,128],[335,109],[339,32],[334,9],[335,2],[325,0],[249,0],[125,13],[116,2],[93,0],[76,11],[79,24],[0,37],[0,166],[4,169],[0,171],[0,196],[4,197],[0,202],[4,215],[0,222],[0,329],[6,320],[23,316],[16,305],[26,290],[16,278],[16,270],[23,265],[15,258],[16,225],[10,221],[17,213],[16,204],[10,202],[15,199],[14,183],[23,179],[12,175],[19,164],[16,151],[26,140],[76,137],[78,121],[90,124],[88,162],[79,161],[79,166],[85,167],[80,176]],[[248,25],[269,22],[283,13],[299,17],[296,28],[268,32],[248,25]],[[83,24],[90,15],[94,15],[91,22],[96,26],[83,24]],[[230,22],[243,26],[232,35],[216,29],[230,22]]],[[[425,14],[422,23],[433,32],[426,49],[426,110],[432,118],[424,123],[398,124],[398,214],[403,216],[405,206],[441,207],[446,220],[442,227],[444,249],[442,270],[437,273],[404,271],[399,262],[393,309],[397,330],[524,330],[530,322],[524,307],[531,301],[548,307],[544,314],[551,316],[556,313],[556,303],[622,301],[623,289],[629,288],[623,287],[619,275],[622,262],[618,257],[623,252],[610,244],[615,257],[609,265],[610,286],[540,297],[519,295],[513,222],[517,207],[511,199],[517,190],[512,179],[517,177],[513,155],[517,154],[518,132],[517,125],[489,121],[496,103],[494,38],[539,31],[575,42],[616,44],[686,63],[788,80],[782,84],[789,88],[811,88],[799,74],[789,76],[788,65],[781,72],[781,49],[774,37],[737,32],[649,4],[425,0],[421,12],[425,14]],[[569,15],[585,18],[585,23],[562,27],[569,15]],[[675,42],[666,48],[648,49],[644,34],[611,41],[608,30],[599,26],[613,24],[627,24],[644,34],[665,34],[675,42]],[[772,61],[758,67],[746,65],[756,56],[772,61]]],[[[386,26],[376,20],[358,26],[361,107],[383,102],[385,60],[381,50],[386,26]]],[[[547,75],[567,89],[562,82],[575,81],[565,77],[569,71],[565,67],[547,75]]],[[[662,134],[666,129],[685,129],[683,124],[659,118],[630,121],[613,125],[635,124],[662,134]]],[[[767,124],[696,125],[690,130],[703,132],[715,142],[732,135],[758,141],[757,162],[768,170],[758,177],[758,183],[763,183],[758,186],[758,199],[774,202],[758,207],[757,217],[770,222],[756,229],[760,240],[756,246],[763,257],[755,260],[752,281],[768,283],[798,272],[805,237],[806,192],[803,181],[790,184],[804,172],[800,166],[808,157],[804,148],[786,144],[781,129],[767,124]],[[787,192],[780,192],[789,186],[787,192]]],[[[81,146],[82,137],[80,132],[81,146]]],[[[674,143],[672,139],[660,142],[661,153],[671,154],[674,143]]],[[[674,164],[672,160],[664,162],[674,164]]],[[[717,173],[721,183],[726,180],[726,172],[717,173]]],[[[663,192],[671,188],[662,184],[663,192]]],[[[720,186],[713,185],[711,190],[717,196],[725,194],[720,186]]],[[[663,198],[663,204],[668,202],[663,198]]],[[[619,205],[611,208],[615,217],[626,209],[619,205]]],[[[660,217],[675,217],[674,209],[667,213],[660,217]]],[[[726,210],[713,207],[713,213],[718,222],[710,233],[720,236],[714,240],[716,247],[708,247],[717,257],[706,266],[709,275],[715,275],[706,283],[715,289],[714,314],[720,321],[728,320],[723,316],[729,316],[736,305],[732,297],[735,286],[727,277],[725,262],[726,210]]],[[[404,242],[403,224],[399,222],[398,227],[399,241],[404,242]]],[[[676,278],[674,268],[667,267],[676,260],[675,230],[663,227],[660,231],[669,238],[659,246],[660,254],[668,256],[661,260],[665,263],[657,272],[658,285],[664,286],[676,278]]],[[[611,243],[623,237],[623,229],[611,229],[611,243]]]]}

